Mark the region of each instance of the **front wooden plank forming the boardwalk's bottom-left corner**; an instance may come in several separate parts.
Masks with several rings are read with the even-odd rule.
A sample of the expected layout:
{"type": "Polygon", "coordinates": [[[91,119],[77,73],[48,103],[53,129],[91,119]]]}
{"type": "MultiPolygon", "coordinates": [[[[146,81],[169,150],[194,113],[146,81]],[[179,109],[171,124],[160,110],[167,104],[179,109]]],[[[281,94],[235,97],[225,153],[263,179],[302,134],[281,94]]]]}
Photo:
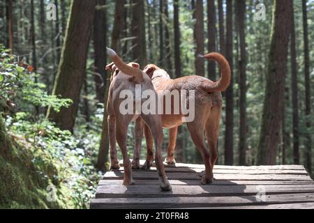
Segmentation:
{"type": "Polygon", "coordinates": [[[264,201],[255,196],[241,197],[158,197],[92,199],[91,208],[194,208],[215,206],[265,206],[266,204],[314,202],[314,193],[269,194],[264,201]]]}

